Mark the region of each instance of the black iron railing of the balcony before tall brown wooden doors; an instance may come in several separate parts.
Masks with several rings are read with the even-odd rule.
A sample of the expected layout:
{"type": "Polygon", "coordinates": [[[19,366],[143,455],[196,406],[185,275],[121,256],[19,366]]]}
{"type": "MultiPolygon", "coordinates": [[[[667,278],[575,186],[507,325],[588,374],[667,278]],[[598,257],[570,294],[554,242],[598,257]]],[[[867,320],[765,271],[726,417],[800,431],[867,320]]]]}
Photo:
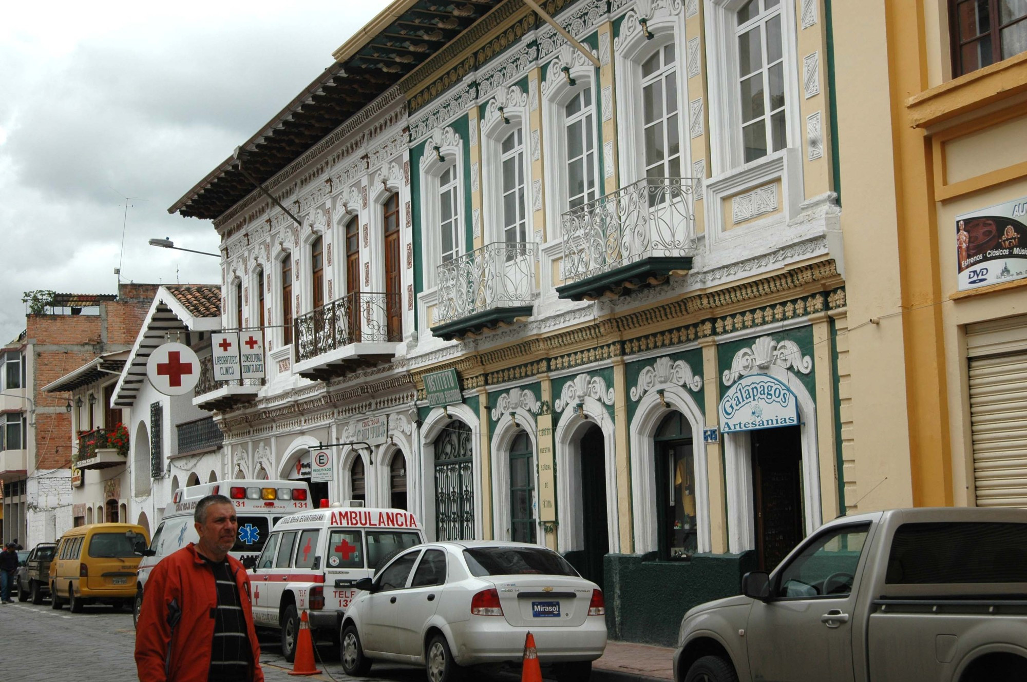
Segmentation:
{"type": "Polygon", "coordinates": [[[396,343],[403,339],[398,294],[354,292],[293,320],[296,362],[352,343],[396,343]]]}

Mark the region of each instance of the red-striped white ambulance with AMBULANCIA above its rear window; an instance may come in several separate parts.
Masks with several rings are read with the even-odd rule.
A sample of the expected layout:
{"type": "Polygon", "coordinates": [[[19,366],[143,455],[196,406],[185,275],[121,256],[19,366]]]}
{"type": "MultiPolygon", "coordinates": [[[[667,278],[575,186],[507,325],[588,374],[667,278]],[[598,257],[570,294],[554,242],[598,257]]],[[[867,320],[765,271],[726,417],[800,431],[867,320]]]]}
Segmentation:
{"type": "Polygon", "coordinates": [[[424,542],[410,511],[348,504],[278,521],[250,576],[254,620],[280,631],[281,653],[290,662],[302,611],[315,639],[334,640],[356,596],[352,584],[372,577],[396,552],[424,542]]]}

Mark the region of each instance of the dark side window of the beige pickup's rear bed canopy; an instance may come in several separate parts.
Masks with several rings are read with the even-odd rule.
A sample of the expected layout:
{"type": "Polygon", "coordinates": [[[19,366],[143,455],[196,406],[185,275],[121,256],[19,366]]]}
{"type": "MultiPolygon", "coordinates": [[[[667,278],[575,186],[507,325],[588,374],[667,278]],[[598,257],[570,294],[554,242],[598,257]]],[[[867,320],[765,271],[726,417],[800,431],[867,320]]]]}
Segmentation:
{"type": "Polygon", "coordinates": [[[896,530],[889,584],[1027,582],[1027,524],[915,523],[896,530]]]}

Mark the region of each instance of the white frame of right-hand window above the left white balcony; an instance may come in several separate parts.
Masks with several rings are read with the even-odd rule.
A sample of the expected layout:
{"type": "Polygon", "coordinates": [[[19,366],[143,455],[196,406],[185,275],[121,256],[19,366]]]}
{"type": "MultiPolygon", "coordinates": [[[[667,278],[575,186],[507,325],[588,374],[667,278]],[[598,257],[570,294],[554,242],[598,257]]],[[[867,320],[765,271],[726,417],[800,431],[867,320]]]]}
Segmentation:
{"type": "Polygon", "coordinates": [[[531,175],[531,131],[528,96],[512,85],[500,90],[482,118],[482,225],[484,243],[506,241],[503,222],[502,143],[517,127],[522,130],[525,179],[525,241],[534,241],[534,178],[531,175]],[[503,108],[499,113],[499,107],[503,108]],[[503,118],[509,122],[504,122],[503,118]]]}

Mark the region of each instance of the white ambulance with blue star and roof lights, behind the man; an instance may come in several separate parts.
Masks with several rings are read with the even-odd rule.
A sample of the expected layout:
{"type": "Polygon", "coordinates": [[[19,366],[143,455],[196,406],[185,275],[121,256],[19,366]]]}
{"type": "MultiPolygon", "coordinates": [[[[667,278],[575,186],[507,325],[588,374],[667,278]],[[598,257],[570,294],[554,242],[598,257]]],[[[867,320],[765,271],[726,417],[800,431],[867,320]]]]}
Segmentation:
{"type": "Polygon", "coordinates": [[[179,488],[172,495],[160,525],[153,533],[150,548],[140,562],[134,620],[139,620],[146,579],[157,562],[199,539],[193,525],[193,511],[196,503],[207,495],[224,495],[235,505],[239,530],[229,554],[246,568],[257,563],[276,521],[313,506],[310,489],[303,481],[233,480],[179,488]]]}

